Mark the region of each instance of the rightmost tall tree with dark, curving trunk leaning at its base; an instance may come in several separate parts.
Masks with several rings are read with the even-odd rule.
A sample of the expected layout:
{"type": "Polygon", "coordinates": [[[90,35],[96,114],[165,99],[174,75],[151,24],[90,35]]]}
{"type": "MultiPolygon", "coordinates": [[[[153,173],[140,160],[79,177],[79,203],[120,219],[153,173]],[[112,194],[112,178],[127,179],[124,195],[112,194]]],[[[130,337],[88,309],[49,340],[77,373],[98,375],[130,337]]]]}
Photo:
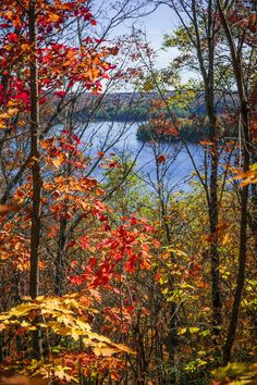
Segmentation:
{"type": "MultiPolygon", "coordinates": [[[[219,0],[217,1],[219,9],[219,16],[221,20],[221,25],[224,30],[224,35],[230,48],[231,60],[233,65],[233,72],[240,99],[240,123],[242,124],[243,132],[243,172],[247,173],[249,171],[250,158],[255,159],[256,149],[253,146],[250,138],[250,126],[249,126],[249,91],[252,82],[249,78],[249,67],[255,65],[255,63],[248,63],[245,69],[245,50],[249,51],[249,60],[253,59],[254,41],[252,34],[256,32],[254,27],[252,29],[250,22],[250,5],[242,4],[237,1],[232,1],[229,4],[222,4],[219,0]],[[236,7],[241,5],[241,12],[236,7]],[[246,20],[245,20],[245,18],[246,20]],[[233,30],[232,23],[240,23],[242,28],[242,35],[237,36],[237,30],[233,30]],[[236,47],[237,45],[237,47],[236,47]]],[[[244,184],[241,191],[241,231],[240,231],[240,251],[238,251],[238,272],[236,278],[236,289],[234,295],[233,308],[228,330],[228,335],[225,344],[223,347],[223,361],[224,364],[231,360],[231,350],[235,339],[240,306],[242,300],[242,294],[245,282],[245,269],[247,260],[247,216],[248,216],[248,185],[244,184]]],[[[255,191],[256,194],[256,191],[255,191]]],[[[254,197],[256,200],[256,197],[254,197]]],[[[254,214],[256,215],[256,213],[254,214]]],[[[250,222],[252,228],[256,231],[256,219],[250,222]]]]}

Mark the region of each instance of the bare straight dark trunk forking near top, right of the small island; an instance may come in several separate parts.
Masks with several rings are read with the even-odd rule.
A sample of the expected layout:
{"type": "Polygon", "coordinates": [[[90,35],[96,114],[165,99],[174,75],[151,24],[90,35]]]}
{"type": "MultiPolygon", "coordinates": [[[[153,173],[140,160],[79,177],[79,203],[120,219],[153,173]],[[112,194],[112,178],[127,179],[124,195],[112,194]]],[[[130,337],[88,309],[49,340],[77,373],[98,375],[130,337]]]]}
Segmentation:
{"type": "MultiPolygon", "coordinates": [[[[205,104],[207,115],[209,120],[209,139],[211,141],[210,149],[210,179],[207,192],[208,212],[209,212],[209,234],[210,234],[210,247],[209,257],[211,264],[211,305],[212,305],[212,330],[213,334],[218,336],[220,334],[220,326],[222,322],[221,311],[221,293],[220,293],[220,274],[219,274],[219,250],[218,250],[218,223],[219,223],[219,210],[218,210],[218,141],[217,141],[217,112],[215,105],[215,16],[213,16],[213,1],[208,1],[207,9],[207,41],[208,41],[208,64],[205,64],[204,48],[199,35],[199,25],[197,21],[197,7],[196,1],[192,0],[192,11],[194,20],[194,29],[196,35],[196,50],[199,62],[199,67],[205,85],[205,104]]],[[[215,339],[217,344],[218,340],[215,339]]]]}

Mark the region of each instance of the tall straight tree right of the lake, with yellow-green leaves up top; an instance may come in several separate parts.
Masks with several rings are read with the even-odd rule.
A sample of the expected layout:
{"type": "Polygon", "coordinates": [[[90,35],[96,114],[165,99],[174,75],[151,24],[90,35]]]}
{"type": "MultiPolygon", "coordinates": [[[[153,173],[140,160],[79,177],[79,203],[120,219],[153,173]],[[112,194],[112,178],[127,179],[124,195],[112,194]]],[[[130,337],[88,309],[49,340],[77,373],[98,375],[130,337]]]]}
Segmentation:
{"type": "MultiPolygon", "coordinates": [[[[208,140],[210,157],[210,174],[205,179],[199,175],[206,194],[209,211],[210,247],[212,281],[212,326],[213,333],[220,334],[221,316],[221,291],[219,277],[219,251],[218,251],[218,223],[219,223],[219,197],[218,197],[218,119],[216,95],[216,57],[219,26],[217,26],[217,7],[208,1],[200,4],[197,1],[160,1],[159,4],[170,7],[181,23],[173,37],[167,36],[166,45],[178,46],[183,51],[181,60],[174,61],[174,66],[182,67],[185,64],[197,69],[203,79],[203,94],[205,98],[206,114],[208,116],[208,140]]],[[[172,78],[169,79],[172,83],[172,78]]],[[[186,92],[185,92],[186,95],[186,92]]],[[[171,114],[172,116],[172,114],[171,114]]],[[[208,173],[207,173],[208,174],[208,173]]]]}

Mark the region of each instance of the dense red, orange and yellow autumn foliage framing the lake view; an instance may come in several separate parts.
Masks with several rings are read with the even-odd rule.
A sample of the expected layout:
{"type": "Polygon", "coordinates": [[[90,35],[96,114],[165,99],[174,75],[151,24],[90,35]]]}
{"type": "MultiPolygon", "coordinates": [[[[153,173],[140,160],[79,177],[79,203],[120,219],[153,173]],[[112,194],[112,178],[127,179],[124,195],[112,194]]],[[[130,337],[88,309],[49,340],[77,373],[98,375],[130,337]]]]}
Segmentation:
{"type": "MultiPolygon", "coordinates": [[[[197,7],[205,21],[215,17],[219,33],[231,27],[235,39],[244,30],[242,45],[248,54],[256,41],[256,16],[247,13],[247,4],[232,7],[223,18],[218,2],[209,13],[201,3],[197,7]]],[[[155,113],[145,125],[155,177],[149,170],[143,176],[135,172],[136,161],[111,152],[112,146],[95,151],[85,139],[86,127],[81,129],[76,121],[83,96],[90,92],[100,103],[108,79],[128,82],[136,76],[144,82],[142,70],[131,63],[113,74],[124,47],[96,37],[96,25],[90,1],[1,4],[0,383],[208,384],[216,368],[213,385],[254,384],[255,88],[247,96],[247,109],[238,91],[241,104],[218,115],[216,109],[210,111],[210,87],[205,84],[208,129],[196,145],[203,150],[201,165],[182,140],[198,182],[195,177],[188,190],[174,192],[169,170],[179,146],[171,153],[167,144],[181,144],[188,121],[203,123],[196,123],[196,114],[186,120],[171,112],[175,94],[171,100],[161,94],[162,85],[157,87],[160,100],[152,103],[155,113]],[[240,127],[238,140],[227,139],[228,127],[230,133],[240,127]],[[149,189],[137,194],[147,177],[149,189]],[[231,324],[229,355],[248,363],[217,369],[231,324]]],[[[204,25],[200,22],[203,30],[204,25]]],[[[193,50],[186,36],[192,30],[192,25],[179,29],[171,40],[193,50]]],[[[211,46],[209,35],[197,38],[207,41],[205,48],[211,46]]],[[[227,41],[225,33],[222,39],[227,41]]],[[[213,45],[220,41],[213,38],[213,45]]],[[[233,45],[228,41],[229,52],[233,45]]],[[[136,48],[132,63],[144,62],[139,49],[152,53],[146,44],[136,48]]],[[[194,64],[200,57],[196,53],[180,63],[194,64]]],[[[205,52],[203,58],[206,65],[205,52]]],[[[219,70],[223,73],[221,65],[219,70]]],[[[144,91],[158,80],[156,73],[150,75],[144,91]]],[[[231,95],[235,79],[230,73],[231,95]]],[[[192,92],[178,95],[186,98],[192,92]]]]}

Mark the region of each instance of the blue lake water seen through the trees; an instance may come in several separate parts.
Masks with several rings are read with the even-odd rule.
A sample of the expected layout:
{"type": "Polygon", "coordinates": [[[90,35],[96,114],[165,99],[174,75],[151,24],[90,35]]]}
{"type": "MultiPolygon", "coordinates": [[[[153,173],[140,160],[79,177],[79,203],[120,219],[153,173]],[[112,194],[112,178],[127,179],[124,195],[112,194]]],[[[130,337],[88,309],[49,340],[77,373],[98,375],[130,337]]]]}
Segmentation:
{"type": "MultiPolygon", "coordinates": [[[[115,153],[120,159],[130,154],[136,158],[135,169],[149,186],[154,187],[157,181],[166,185],[169,190],[191,190],[189,181],[194,166],[192,160],[181,142],[172,144],[143,144],[136,137],[138,124],[124,122],[90,123],[83,133],[82,139],[87,144],[89,156],[105,152],[110,158],[115,153]],[[157,174],[157,159],[160,160],[159,175],[157,174]]],[[[203,166],[203,147],[189,144],[188,149],[197,167],[203,166]]],[[[102,171],[96,169],[94,175],[101,178],[102,171]]]]}

